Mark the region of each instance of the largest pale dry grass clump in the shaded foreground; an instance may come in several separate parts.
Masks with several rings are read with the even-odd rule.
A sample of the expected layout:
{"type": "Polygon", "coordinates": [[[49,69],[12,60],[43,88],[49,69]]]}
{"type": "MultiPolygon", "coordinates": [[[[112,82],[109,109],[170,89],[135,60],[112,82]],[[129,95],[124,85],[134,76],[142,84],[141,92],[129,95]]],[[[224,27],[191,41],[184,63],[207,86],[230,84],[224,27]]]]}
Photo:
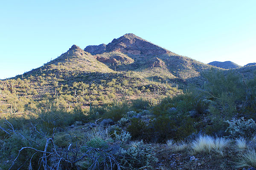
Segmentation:
{"type": "Polygon", "coordinates": [[[214,150],[223,155],[223,150],[229,146],[229,141],[224,138],[200,135],[192,142],[192,153],[211,153],[214,150]]]}

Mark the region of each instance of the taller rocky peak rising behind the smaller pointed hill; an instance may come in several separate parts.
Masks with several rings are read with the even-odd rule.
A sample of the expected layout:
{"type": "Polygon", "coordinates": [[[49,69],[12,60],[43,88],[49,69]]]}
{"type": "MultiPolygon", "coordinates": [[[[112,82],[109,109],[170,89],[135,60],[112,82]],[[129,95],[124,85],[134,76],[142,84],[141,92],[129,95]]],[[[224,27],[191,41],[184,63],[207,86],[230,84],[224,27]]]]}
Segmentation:
{"type": "Polygon", "coordinates": [[[89,45],[84,51],[116,71],[133,71],[137,77],[163,78],[169,82],[189,82],[209,65],[180,56],[158,45],[154,45],[134,34],[125,34],[112,42],[89,45]]]}

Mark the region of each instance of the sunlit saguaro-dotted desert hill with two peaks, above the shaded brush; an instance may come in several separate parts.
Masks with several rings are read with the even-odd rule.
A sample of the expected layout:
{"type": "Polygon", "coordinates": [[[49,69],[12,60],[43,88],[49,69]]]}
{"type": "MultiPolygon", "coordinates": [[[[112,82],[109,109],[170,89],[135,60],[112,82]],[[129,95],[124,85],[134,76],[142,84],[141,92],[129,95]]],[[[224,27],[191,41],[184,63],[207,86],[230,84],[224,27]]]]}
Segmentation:
{"type": "Polygon", "coordinates": [[[157,102],[163,96],[182,93],[189,83],[202,85],[201,73],[210,68],[125,34],[107,45],[90,45],[84,50],[73,45],[56,59],[1,85],[3,90],[30,99],[31,104],[53,102],[65,109],[77,103],[89,107],[141,97],[157,102]]]}

